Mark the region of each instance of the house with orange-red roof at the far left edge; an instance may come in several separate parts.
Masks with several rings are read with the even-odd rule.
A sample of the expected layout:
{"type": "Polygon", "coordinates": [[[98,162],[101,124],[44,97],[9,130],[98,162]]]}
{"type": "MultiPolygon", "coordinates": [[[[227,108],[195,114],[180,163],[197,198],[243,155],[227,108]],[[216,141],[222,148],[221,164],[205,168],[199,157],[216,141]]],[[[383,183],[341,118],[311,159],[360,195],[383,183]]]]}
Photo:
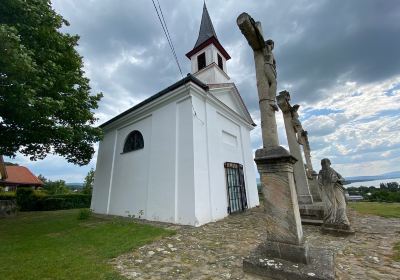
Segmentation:
{"type": "Polygon", "coordinates": [[[24,166],[5,166],[1,162],[0,174],[0,186],[5,187],[6,191],[14,191],[21,186],[34,188],[43,186],[43,182],[24,166]]]}

